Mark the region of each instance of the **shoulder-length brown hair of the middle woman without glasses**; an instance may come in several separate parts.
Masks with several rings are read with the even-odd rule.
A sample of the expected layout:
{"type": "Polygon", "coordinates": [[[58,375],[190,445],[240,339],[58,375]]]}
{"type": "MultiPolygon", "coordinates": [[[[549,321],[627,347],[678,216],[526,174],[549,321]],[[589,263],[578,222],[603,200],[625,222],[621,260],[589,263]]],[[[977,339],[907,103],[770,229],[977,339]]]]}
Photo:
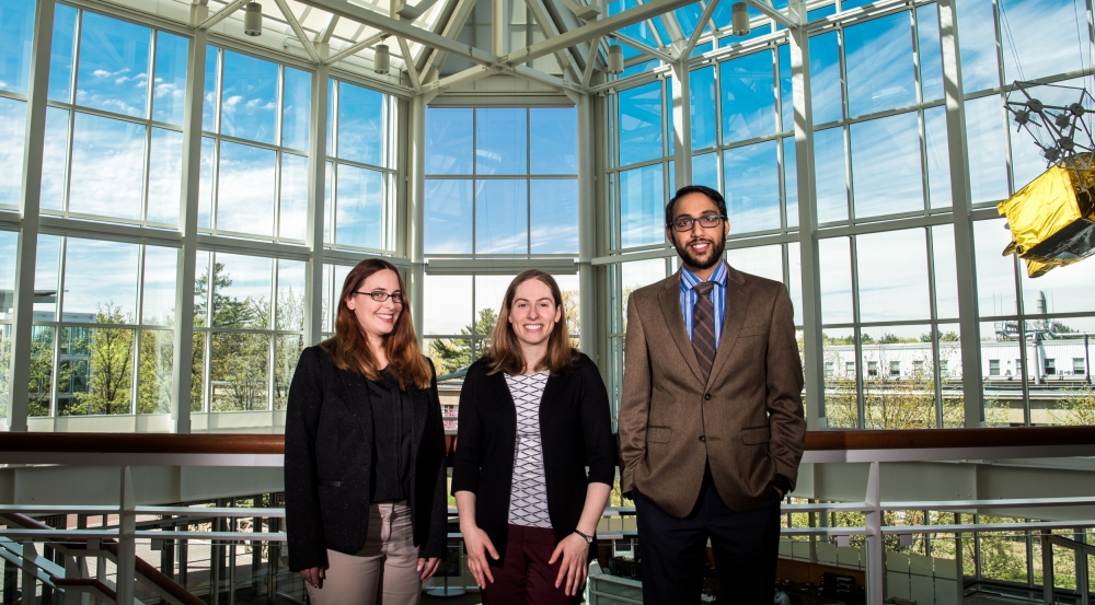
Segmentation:
{"type": "Polygon", "coordinates": [[[555,306],[558,307],[558,323],[548,335],[548,353],[540,360],[538,368],[533,371],[550,370],[552,375],[564,374],[574,369],[574,362],[578,357],[578,351],[570,346],[570,335],[566,327],[566,310],[563,309],[563,292],[555,283],[555,278],[541,271],[540,269],[529,269],[522,271],[514,278],[506,289],[506,296],[502,301],[502,310],[498,312],[498,323],[494,325],[491,334],[491,348],[483,357],[487,360],[491,370],[487,374],[505,372],[507,374],[520,374],[525,372],[525,353],[521,351],[521,344],[517,340],[512,327],[509,325],[509,310],[514,306],[514,299],[517,298],[517,287],[530,279],[540,280],[551,290],[551,295],[555,299],[555,306]]]}

